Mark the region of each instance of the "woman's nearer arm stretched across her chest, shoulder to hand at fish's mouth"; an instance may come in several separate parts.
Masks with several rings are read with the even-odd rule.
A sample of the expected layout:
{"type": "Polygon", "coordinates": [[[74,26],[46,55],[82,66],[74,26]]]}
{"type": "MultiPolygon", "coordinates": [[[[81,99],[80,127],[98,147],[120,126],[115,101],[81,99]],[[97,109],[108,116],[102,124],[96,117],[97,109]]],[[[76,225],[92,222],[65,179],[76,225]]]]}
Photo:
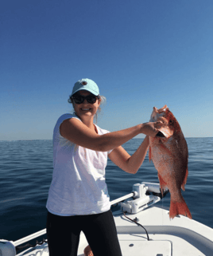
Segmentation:
{"type": "Polygon", "coordinates": [[[138,124],[118,132],[109,132],[99,135],[95,130],[92,131],[80,120],[71,118],[64,120],[64,122],[60,124],[60,135],[83,148],[107,152],[111,149],[118,148],[139,133],[144,133],[148,136],[156,136],[158,132],[156,128],[157,125],[157,123],[138,124]]]}

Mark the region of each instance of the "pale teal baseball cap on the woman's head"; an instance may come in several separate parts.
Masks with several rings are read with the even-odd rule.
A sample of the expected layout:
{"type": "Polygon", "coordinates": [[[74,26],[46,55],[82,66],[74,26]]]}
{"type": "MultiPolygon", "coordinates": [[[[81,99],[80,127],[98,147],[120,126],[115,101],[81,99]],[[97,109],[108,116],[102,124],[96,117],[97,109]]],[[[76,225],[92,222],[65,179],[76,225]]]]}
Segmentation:
{"type": "Polygon", "coordinates": [[[94,94],[95,96],[99,95],[98,85],[96,85],[95,81],[92,81],[91,79],[88,79],[88,78],[83,78],[76,82],[76,84],[74,85],[74,87],[72,89],[71,96],[80,90],[88,91],[88,92],[94,94]]]}

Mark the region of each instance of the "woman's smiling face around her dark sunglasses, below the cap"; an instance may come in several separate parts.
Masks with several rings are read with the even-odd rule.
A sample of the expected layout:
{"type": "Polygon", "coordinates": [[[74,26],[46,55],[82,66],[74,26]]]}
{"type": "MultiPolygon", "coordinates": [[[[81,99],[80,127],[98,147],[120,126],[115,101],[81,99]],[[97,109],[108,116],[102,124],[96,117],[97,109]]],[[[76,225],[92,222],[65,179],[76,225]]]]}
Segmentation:
{"type": "MultiPolygon", "coordinates": [[[[89,96],[91,95],[90,92],[87,91],[79,91],[78,94],[82,96],[89,96]]],[[[74,110],[76,112],[76,115],[79,116],[80,119],[85,119],[85,118],[93,118],[98,111],[99,105],[101,103],[101,100],[97,98],[94,104],[88,103],[86,99],[84,99],[83,103],[81,104],[76,104],[74,102],[74,110]]]]}

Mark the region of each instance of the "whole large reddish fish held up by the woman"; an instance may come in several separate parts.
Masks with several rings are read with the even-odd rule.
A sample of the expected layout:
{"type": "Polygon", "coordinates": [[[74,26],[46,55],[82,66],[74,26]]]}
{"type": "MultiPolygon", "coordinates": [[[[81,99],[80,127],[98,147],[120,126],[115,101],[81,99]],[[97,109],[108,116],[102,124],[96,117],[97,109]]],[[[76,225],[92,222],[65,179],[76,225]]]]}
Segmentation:
{"type": "Polygon", "coordinates": [[[192,219],[181,189],[184,191],[188,179],[188,145],[180,124],[168,109],[153,107],[150,122],[158,123],[157,136],[149,136],[149,162],[152,160],[157,169],[161,193],[166,188],[170,192],[169,218],[177,215],[192,219]]]}

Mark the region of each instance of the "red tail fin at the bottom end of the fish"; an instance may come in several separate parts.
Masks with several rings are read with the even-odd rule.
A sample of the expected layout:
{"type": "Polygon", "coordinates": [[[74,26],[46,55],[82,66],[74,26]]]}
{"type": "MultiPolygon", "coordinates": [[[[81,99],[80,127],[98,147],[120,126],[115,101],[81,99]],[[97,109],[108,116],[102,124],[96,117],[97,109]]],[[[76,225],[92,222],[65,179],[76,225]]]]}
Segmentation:
{"type": "Polygon", "coordinates": [[[176,217],[176,215],[184,215],[188,217],[189,219],[192,219],[191,212],[188,209],[188,206],[186,202],[184,201],[183,196],[181,196],[181,202],[175,202],[172,201],[170,203],[170,208],[169,208],[169,218],[173,219],[176,217]]]}

